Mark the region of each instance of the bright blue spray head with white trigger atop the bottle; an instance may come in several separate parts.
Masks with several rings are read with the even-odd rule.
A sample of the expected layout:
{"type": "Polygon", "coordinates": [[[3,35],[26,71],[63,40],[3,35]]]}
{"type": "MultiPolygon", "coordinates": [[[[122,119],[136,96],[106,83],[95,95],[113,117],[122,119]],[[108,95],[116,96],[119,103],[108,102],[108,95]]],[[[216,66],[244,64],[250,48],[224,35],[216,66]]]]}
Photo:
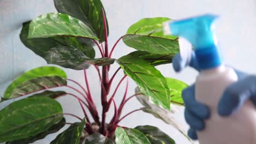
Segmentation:
{"type": "Polygon", "coordinates": [[[180,51],[183,60],[190,61],[191,47],[194,47],[197,63],[201,69],[216,67],[221,64],[217,52],[217,39],[214,34],[214,21],[217,15],[206,14],[189,19],[163,23],[165,34],[179,37],[180,51]],[[182,43],[189,43],[192,45],[182,43]]]}

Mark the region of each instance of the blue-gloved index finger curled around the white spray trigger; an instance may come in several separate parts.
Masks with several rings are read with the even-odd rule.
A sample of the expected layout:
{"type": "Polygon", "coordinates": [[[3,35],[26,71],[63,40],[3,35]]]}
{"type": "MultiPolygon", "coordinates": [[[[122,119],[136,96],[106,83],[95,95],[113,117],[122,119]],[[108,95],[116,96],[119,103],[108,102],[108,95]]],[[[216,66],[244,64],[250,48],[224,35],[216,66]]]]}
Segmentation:
{"type": "Polygon", "coordinates": [[[196,70],[199,70],[194,51],[191,53],[190,62],[188,61],[188,59],[182,59],[181,53],[178,53],[176,56],[173,57],[172,65],[173,65],[173,69],[177,72],[183,70],[188,65],[196,70]]]}

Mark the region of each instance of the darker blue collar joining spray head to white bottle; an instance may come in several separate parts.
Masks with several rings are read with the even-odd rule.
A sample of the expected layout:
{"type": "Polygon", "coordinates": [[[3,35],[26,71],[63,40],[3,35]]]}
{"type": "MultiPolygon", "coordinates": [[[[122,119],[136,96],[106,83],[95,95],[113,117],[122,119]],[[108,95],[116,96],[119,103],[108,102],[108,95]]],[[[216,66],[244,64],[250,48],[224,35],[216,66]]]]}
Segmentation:
{"type": "Polygon", "coordinates": [[[195,49],[196,61],[200,70],[216,68],[222,64],[218,49],[215,45],[195,49]]]}

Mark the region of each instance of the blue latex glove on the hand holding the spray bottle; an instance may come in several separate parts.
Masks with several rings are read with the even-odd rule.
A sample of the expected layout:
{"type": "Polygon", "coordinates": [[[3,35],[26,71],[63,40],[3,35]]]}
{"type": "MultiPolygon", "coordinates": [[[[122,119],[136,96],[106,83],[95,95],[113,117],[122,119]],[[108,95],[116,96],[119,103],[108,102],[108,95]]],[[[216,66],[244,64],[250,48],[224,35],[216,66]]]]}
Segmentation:
{"type": "MultiPolygon", "coordinates": [[[[173,68],[175,71],[181,71],[187,66],[199,70],[194,52],[190,62],[183,61],[179,53],[173,58],[173,68]]],[[[225,89],[219,101],[218,113],[220,116],[230,116],[232,113],[235,113],[247,99],[251,99],[254,105],[256,105],[256,76],[247,75],[238,70],[235,70],[235,72],[238,76],[238,81],[225,89]]],[[[182,97],[185,104],[185,120],[190,125],[188,136],[196,140],[196,130],[200,131],[205,128],[204,121],[210,117],[210,110],[206,105],[196,101],[195,85],[184,89],[182,97]]]]}

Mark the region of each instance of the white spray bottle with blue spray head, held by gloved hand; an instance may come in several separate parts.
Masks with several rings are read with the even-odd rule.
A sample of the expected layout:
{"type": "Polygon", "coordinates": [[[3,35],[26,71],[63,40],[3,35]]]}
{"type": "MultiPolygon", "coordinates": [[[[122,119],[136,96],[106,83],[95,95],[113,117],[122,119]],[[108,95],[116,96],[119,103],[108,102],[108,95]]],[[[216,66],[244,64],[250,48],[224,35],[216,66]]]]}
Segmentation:
{"type": "MultiPolygon", "coordinates": [[[[187,39],[194,47],[200,73],[195,83],[195,98],[210,108],[211,117],[203,131],[197,131],[200,144],[255,144],[256,110],[251,101],[234,115],[221,117],[217,108],[224,90],[237,81],[235,71],[226,67],[218,52],[214,22],[218,16],[206,14],[164,23],[164,31],[187,39]]],[[[191,49],[180,47],[181,56],[189,61],[191,49]]]]}

